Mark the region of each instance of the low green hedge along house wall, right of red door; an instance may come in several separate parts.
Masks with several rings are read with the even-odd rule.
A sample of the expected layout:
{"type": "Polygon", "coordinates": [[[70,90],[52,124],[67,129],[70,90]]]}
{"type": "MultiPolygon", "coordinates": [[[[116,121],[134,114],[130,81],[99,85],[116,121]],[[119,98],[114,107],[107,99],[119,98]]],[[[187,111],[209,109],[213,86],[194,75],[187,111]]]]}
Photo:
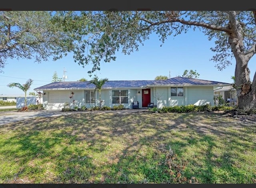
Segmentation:
{"type": "Polygon", "coordinates": [[[201,106],[196,106],[193,104],[189,105],[181,105],[181,106],[164,106],[162,108],[149,108],[150,112],[159,112],[159,113],[186,113],[186,112],[212,112],[212,111],[220,111],[220,110],[232,110],[234,107],[232,106],[211,106],[210,104],[205,104],[201,106]]]}

